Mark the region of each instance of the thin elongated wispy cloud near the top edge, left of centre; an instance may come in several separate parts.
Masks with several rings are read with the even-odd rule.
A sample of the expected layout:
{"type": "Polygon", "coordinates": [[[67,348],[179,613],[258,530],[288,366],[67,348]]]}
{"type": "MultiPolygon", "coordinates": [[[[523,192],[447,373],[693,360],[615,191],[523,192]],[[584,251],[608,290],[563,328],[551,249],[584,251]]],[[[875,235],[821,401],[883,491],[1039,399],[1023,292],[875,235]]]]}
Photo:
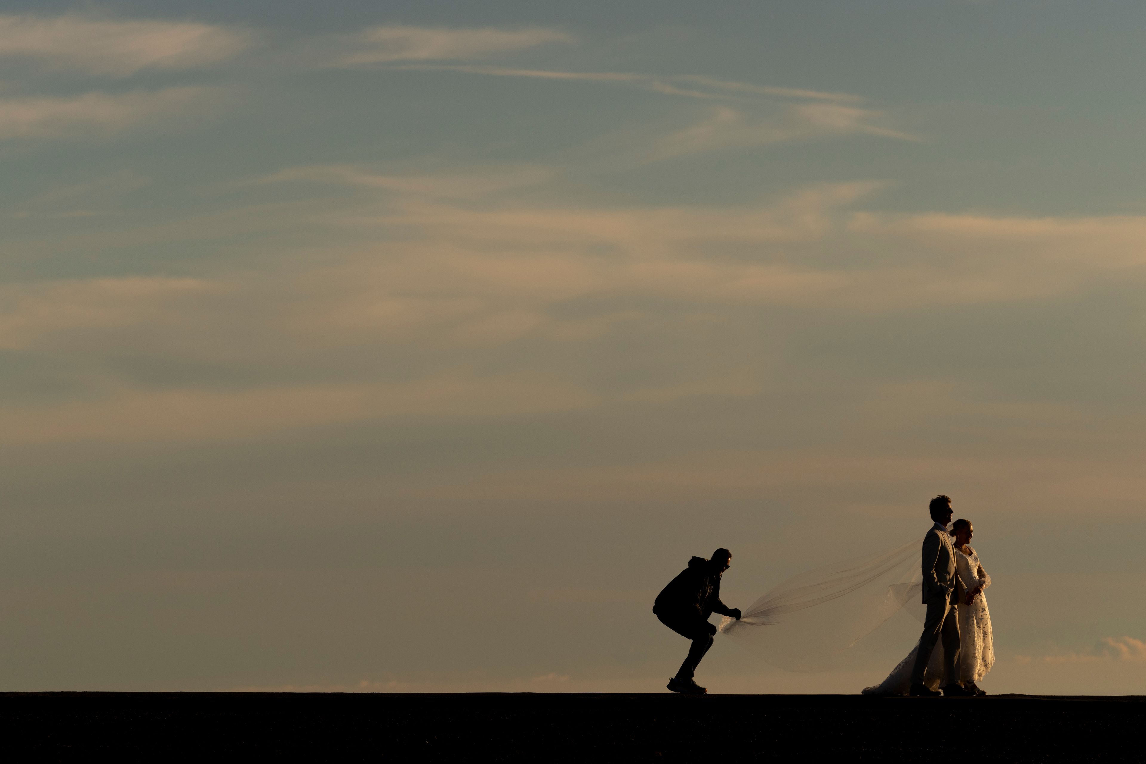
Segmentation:
{"type": "Polygon", "coordinates": [[[393,61],[464,61],[572,40],[565,32],[544,27],[374,26],[343,39],[340,47],[348,52],[336,58],[336,65],[361,66],[393,61]]]}

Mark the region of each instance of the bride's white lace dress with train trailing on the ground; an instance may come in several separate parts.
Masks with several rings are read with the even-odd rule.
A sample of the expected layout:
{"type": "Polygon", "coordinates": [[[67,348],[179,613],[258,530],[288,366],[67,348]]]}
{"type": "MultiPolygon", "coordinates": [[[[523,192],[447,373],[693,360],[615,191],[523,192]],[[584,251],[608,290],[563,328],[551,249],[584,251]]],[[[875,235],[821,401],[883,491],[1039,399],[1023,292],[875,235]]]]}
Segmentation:
{"type": "MultiPolygon", "coordinates": [[[[991,585],[991,577],[983,570],[979,562],[979,553],[972,546],[967,546],[970,554],[964,554],[956,549],[955,562],[958,570],[959,581],[964,591],[971,591],[982,584],[980,592],[971,605],[959,602],[957,609],[959,617],[959,680],[965,683],[979,682],[995,665],[995,638],[991,633],[991,614],[987,609],[987,588],[991,585]],[[981,576],[979,574],[982,574],[981,576]]],[[[865,695],[906,695],[911,687],[911,669],[916,664],[916,654],[919,652],[917,644],[905,659],[898,662],[884,682],[874,687],[865,687],[865,695]]],[[[943,676],[943,645],[936,643],[932,651],[931,660],[927,662],[927,671],[924,675],[924,684],[929,688],[948,684],[943,676]]]]}

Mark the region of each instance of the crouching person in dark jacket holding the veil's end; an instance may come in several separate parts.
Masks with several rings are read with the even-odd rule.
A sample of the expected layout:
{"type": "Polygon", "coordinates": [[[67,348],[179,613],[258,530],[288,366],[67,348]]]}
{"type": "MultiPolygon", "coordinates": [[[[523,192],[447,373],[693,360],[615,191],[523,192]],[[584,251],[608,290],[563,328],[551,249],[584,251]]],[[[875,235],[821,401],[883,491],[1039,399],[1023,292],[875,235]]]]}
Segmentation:
{"type": "Polygon", "coordinates": [[[708,623],[708,616],[720,613],[740,620],[740,611],[720,601],[720,578],[731,564],[732,552],[727,549],[717,549],[711,560],[694,557],[689,560],[689,567],[657,594],[652,612],[666,627],[692,640],[681,670],[668,680],[668,688],[673,692],[694,695],[707,692],[692,680],[692,675],[700,659],[713,646],[716,627],[708,623]]]}

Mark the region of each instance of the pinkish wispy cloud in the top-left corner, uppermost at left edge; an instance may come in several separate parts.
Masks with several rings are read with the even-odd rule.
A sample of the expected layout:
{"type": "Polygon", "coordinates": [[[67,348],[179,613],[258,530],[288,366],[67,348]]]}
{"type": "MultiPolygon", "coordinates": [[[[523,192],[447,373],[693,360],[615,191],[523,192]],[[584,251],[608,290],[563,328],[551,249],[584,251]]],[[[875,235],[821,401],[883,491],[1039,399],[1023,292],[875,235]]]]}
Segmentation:
{"type": "Polygon", "coordinates": [[[251,34],[194,22],[0,16],[0,57],[50,69],[124,77],[143,69],[195,69],[248,48],[251,34]]]}

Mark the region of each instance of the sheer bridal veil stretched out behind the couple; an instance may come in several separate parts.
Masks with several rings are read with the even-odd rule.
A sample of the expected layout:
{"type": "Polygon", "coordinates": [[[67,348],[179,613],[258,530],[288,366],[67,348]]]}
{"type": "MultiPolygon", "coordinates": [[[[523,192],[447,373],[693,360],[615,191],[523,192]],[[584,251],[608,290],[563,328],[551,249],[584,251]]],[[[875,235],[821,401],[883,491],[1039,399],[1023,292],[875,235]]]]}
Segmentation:
{"type": "Polygon", "coordinates": [[[791,671],[824,671],[903,608],[924,620],[923,539],[792,576],[721,631],[748,652],[791,671]]]}

